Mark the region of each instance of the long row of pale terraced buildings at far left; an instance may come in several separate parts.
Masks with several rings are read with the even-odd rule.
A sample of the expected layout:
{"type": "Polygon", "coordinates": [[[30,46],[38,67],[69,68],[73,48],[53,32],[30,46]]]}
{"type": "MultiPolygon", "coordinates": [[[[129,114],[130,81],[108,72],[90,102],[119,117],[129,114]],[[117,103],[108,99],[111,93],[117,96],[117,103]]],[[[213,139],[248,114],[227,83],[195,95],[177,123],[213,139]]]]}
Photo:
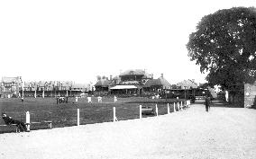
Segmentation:
{"type": "Polygon", "coordinates": [[[0,97],[56,97],[79,96],[91,91],[90,84],[72,81],[22,81],[21,76],[2,77],[0,97]]]}

